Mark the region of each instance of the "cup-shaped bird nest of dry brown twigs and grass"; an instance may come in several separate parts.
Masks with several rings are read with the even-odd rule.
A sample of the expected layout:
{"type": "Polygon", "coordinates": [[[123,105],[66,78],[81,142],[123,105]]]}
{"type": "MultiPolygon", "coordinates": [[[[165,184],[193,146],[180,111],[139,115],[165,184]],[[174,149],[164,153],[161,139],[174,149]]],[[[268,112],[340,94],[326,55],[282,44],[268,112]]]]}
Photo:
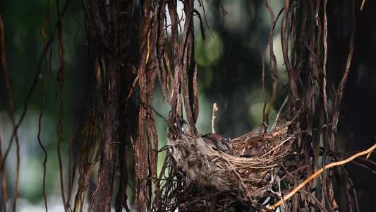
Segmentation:
{"type": "Polygon", "coordinates": [[[233,154],[214,148],[189,130],[168,144],[186,188],[194,184],[204,193],[237,191],[253,203],[274,194],[281,164],[292,152],[287,128],[285,124],[266,133],[257,129],[232,139],[233,154]]]}

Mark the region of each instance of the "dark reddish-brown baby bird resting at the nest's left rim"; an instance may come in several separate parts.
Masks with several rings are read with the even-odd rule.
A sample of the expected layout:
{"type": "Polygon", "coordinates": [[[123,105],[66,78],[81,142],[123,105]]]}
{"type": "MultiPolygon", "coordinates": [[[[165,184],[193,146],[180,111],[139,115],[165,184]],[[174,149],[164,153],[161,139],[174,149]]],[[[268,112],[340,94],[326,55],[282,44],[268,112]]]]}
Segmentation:
{"type": "Polygon", "coordinates": [[[222,151],[228,155],[237,156],[233,151],[233,143],[231,139],[226,139],[224,136],[215,133],[209,133],[202,136],[202,139],[217,151],[222,151]]]}

